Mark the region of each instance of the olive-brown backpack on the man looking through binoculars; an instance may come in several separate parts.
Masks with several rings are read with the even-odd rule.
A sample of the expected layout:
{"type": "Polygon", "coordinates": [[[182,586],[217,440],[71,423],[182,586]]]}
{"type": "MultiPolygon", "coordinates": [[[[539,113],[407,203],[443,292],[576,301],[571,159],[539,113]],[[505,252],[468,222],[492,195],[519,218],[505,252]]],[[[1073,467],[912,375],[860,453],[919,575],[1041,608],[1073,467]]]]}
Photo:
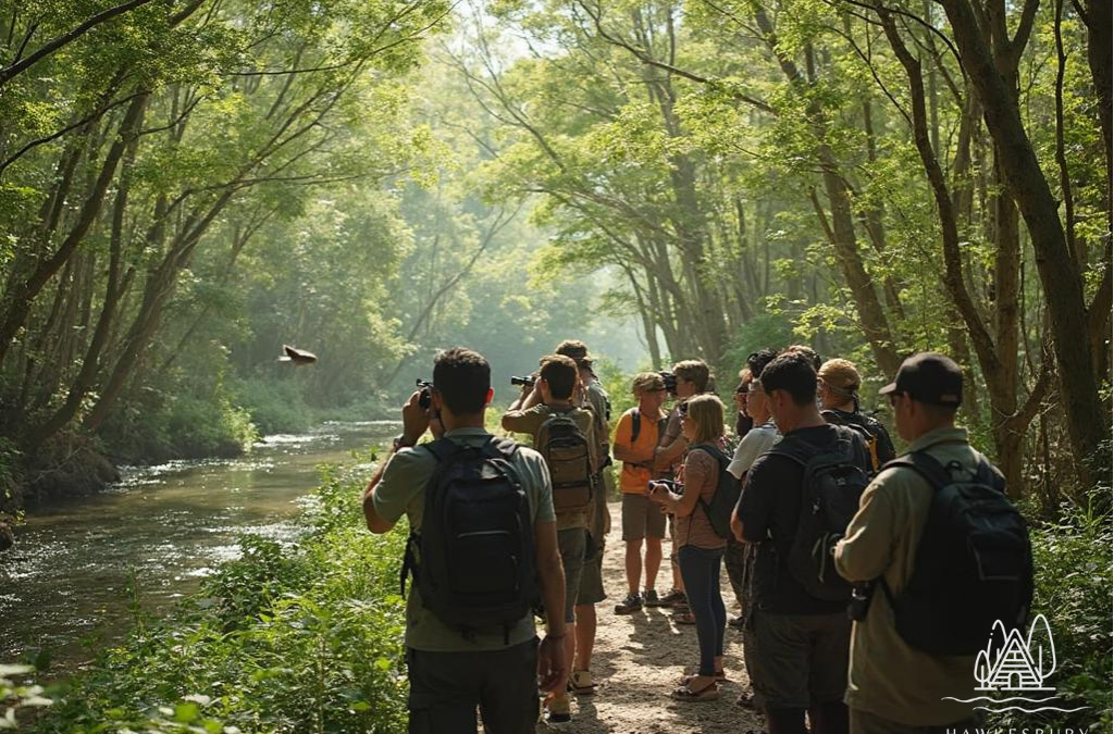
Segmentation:
{"type": "Polygon", "coordinates": [[[538,428],[535,447],[549,467],[554,509],[583,510],[592,500],[592,449],[573,411],[556,411],[538,428]]]}

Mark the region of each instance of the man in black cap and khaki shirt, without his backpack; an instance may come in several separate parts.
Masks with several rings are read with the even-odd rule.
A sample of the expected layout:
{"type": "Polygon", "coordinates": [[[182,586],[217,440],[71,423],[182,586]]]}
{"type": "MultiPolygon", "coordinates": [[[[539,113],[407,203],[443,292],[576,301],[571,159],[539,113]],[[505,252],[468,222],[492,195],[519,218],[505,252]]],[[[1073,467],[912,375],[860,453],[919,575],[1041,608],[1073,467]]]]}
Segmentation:
{"type": "MultiPolygon", "coordinates": [[[[968,443],[967,430],[956,427],[962,373],[955,362],[934,352],[910,356],[879,394],[890,401],[898,434],[909,442],[907,453],[925,452],[957,478],[974,476],[979,454],[968,443]]],[[[931,486],[912,469],[891,467],[879,473],[836,546],[840,575],[857,584],[881,577],[899,593],[912,574],[931,499],[931,486]]],[[[851,635],[851,732],[945,734],[974,728],[973,704],[954,701],[975,695],[974,669],[974,656],[929,655],[906,644],[886,595],[874,594],[851,635]]]]}

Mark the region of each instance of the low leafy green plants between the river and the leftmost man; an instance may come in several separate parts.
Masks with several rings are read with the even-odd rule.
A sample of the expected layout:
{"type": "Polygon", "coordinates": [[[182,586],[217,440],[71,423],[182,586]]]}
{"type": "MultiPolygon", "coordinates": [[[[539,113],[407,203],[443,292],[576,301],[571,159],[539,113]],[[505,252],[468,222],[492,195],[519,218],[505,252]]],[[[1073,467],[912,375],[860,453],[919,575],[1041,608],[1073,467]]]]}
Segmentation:
{"type": "Polygon", "coordinates": [[[370,535],[359,496],[326,469],[296,545],[244,538],[172,619],[51,688],[28,731],[403,732],[403,538],[370,535]]]}

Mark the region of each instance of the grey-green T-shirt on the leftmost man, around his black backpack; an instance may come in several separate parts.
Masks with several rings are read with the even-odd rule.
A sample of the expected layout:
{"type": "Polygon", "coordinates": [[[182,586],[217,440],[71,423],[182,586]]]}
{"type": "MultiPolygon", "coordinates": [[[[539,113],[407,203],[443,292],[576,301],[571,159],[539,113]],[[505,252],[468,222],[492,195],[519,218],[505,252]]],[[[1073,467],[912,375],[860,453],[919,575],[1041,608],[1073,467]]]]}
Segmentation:
{"type": "MultiPolygon", "coordinates": [[[[449,431],[447,438],[463,446],[481,446],[491,434],[481,428],[462,428],[449,431]]],[[[534,525],[554,521],[553,490],[549,486],[549,470],[541,456],[521,447],[511,459],[526,490],[534,525]]],[[[433,454],[418,446],[400,449],[392,456],[372,495],[375,512],[388,522],[397,522],[403,515],[410,521],[411,530],[420,530],[426,508],[426,487],[437,469],[433,454]]],[[[407,647],[430,653],[468,653],[502,649],[534,638],[534,614],[528,613],[504,637],[501,626],[477,630],[467,638],[460,632],[442,623],[437,615],[421,603],[418,585],[409,586],[407,599],[407,647]],[[509,645],[508,645],[509,643],[509,645]]]]}

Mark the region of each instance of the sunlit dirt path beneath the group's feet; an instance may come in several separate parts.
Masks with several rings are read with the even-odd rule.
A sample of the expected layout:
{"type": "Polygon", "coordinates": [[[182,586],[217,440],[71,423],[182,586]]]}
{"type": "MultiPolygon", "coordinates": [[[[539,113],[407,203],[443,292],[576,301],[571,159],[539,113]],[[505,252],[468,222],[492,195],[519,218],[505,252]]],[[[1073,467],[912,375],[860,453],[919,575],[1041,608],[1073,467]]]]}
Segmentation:
{"type": "MultiPolygon", "coordinates": [[[[762,731],[762,717],[735,705],[741,686],[746,686],[742,642],[737,630],[727,628],[725,668],[727,683],[716,701],[682,703],[670,698],[687,666],[695,666],[700,654],[696,628],[671,622],[667,608],[643,609],[616,615],[615,605],[626,596],[623,566],[624,546],[619,535],[620,509],[610,505],[614,529],[607,537],[604,556],[604,589],[607,599],[596,607],[599,626],[593,653],[592,673],[596,694],[578,696],[573,703],[573,721],[567,724],[541,724],[538,732],[576,734],[745,734],[762,731]]],[[[668,590],[668,541],[666,560],[657,576],[657,588],[668,590]]],[[[737,614],[735,599],[723,575],[723,599],[727,616],[737,614]]]]}

